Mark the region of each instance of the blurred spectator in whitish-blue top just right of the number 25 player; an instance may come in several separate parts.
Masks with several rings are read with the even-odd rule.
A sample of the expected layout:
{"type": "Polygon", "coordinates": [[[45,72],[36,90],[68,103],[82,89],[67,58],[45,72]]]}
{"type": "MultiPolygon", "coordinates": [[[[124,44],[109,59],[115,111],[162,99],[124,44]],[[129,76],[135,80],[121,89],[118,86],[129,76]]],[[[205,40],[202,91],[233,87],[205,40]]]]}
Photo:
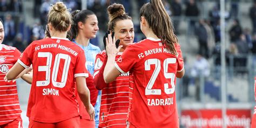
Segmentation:
{"type": "Polygon", "coordinates": [[[200,55],[197,55],[197,60],[194,62],[191,69],[191,77],[194,79],[196,85],[196,99],[200,100],[200,84],[203,84],[207,77],[210,76],[210,64],[207,59],[200,55]],[[203,78],[203,82],[200,82],[200,77],[203,78]]]}

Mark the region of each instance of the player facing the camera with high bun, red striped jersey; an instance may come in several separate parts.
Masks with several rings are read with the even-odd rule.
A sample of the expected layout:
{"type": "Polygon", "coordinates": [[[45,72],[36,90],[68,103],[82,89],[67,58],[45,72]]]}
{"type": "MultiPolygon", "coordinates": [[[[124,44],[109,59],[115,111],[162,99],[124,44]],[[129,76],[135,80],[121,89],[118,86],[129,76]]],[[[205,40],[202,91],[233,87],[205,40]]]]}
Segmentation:
{"type": "MultiPolygon", "coordinates": [[[[131,17],[125,13],[122,4],[110,5],[107,12],[109,14],[108,29],[114,32],[114,36],[120,40],[119,44],[123,45],[114,58],[117,60],[126,46],[133,43],[133,23],[131,17]]],[[[129,107],[129,72],[123,73],[113,82],[106,84],[103,79],[106,60],[105,50],[96,56],[95,85],[97,89],[102,90],[99,127],[126,127],[129,107]]]]}

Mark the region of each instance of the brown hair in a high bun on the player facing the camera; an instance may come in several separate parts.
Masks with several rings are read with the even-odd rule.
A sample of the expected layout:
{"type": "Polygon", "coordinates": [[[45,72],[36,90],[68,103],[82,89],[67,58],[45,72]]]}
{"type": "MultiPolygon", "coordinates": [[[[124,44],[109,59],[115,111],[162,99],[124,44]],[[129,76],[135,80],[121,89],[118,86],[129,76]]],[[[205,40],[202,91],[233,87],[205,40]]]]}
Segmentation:
{"type": "Polygon", "coordinates": [[[113,3],[109,7],[107,7],[107,14],[109,14],[109,23],[108,23],[108,30],[114,31],[114,27],[116,23],[120,20],[124,19],[132,19],[125,13],[124,6],[122,4],[113,3]]]}

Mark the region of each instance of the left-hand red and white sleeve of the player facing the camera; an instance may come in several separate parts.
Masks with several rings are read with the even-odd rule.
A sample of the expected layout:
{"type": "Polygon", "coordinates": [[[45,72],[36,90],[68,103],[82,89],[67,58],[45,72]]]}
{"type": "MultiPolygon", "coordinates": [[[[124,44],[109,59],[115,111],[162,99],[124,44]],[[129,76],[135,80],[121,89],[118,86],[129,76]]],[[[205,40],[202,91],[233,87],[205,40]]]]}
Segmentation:
{"type": "Polygon", "coordinates": [[[98,90],[102,90],[107,84],[105,83],[103,72],[106,66],[107,56],[105,52],[98,53],[95,59],[95,73],[93,75],[94,84],[98,90]]]}

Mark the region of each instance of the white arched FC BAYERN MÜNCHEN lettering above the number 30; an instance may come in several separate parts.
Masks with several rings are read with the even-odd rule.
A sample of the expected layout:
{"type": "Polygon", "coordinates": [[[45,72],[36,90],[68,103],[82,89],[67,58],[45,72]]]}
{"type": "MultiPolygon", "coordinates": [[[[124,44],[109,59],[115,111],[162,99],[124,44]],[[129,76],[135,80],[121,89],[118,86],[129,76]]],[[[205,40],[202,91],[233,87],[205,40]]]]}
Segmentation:
{"type": "Polygon", "coordinates": [[[66,46],[60,45],[60,44],[42,44],[41,46],[36,46],[35,50],[39,50],[39,49],[47,49],[47,48],[58,48],[64,51],[68,51],[70,52],[72,55],[77,56],[78,53],[75,50],[72,50],[66,46]]]}

